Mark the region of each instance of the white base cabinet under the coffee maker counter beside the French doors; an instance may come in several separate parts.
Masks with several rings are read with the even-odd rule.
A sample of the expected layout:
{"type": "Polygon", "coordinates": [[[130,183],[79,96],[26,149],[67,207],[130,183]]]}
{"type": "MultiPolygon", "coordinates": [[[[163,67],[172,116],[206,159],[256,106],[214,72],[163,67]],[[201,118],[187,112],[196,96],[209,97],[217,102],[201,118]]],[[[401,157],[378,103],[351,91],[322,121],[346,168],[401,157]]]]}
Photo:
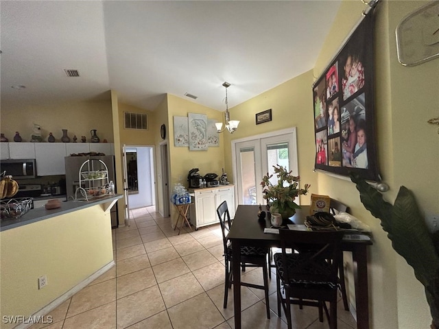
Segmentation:
{"type": "Polygon", "coordinates": [[[226,201],[230,219],[235,217],[235,191],[233,185],[213,188],[195,188],[193,190],[193,205],[190,218],[195,230],[203,226],[219,223],[217,208],[226,201]]]}

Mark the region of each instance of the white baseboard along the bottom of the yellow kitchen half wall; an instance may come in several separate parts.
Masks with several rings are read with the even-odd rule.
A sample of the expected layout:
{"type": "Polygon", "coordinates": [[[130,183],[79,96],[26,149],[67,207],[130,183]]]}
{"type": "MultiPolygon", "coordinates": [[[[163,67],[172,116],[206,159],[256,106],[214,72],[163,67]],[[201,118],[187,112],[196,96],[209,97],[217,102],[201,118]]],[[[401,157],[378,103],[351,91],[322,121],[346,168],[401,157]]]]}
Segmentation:
{"type": "MultiPolygon", "coordinates": [[[[54,310],[55,308],[60,306],[62,303],[64,303],[66,300],[68,300],[71,296],[75,295],[75,293],[78,293],[78,291],[80,291],[84,287],[88,286],[88,284],[91,284],[91,282],[93,282],[94,280],[99,278],[99,276],[102,276],[102,274],[104,274],[106,271],[108,271],[109,269],[111,269],[115,265],[116,265],[115,261],[111,260],[110,263],[108,263],[104,267],[95,271],[95,273],[93,273],[91,276],[88,276],[88,278],[86,278],[85,280],[82,280],[80,283],[76,284],[75,287],[73,287],[72,289],[70,289],[66,293],[63,293],[62,295],[60,295],[60,297],[56,298],[56,300],[54,300],[50,304],[47,304],[45,307],[41,308],[40,310],[38,310],[38,312],[34,313],[30,317],[38,318],[38,317],[43,317],[43,316],[47,315],[51,310],[54,310]]],[[[22,323],[22,324],[19,324],[18,326],[15,326],[14,329],[26,329],[26,328],[29,328],[30,326],[33,326],[33,325],[34,324],[32,324],[32,323],[30,323],[30,324],[23,324],[22,323]]]]}

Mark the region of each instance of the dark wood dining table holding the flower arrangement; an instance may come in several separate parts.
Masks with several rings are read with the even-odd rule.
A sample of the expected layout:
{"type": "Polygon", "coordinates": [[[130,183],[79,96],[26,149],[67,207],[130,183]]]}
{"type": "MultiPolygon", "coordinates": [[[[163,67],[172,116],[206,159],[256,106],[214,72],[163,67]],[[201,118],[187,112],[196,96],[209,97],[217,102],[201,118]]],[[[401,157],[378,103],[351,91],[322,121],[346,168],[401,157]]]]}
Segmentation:
{"type": "MultiPolygon", "coordinates": [[[[233,225],[228,233],[233,247],[233,297],[235,304],[235,329],[241,328],[241,245],[259,247],[280,247],[278,234],[264,233],[264,228],[270,228],[268,216],[258,219],[259,206],[239,205],[233,219],[233,225]]],[[[292,224],[304,223],[309,215],[309,206],[301,206],[294,217],[289,220],[292,224]]],[[[368,254],[367,247],[371,241],[343,241],[344,252],[352,252],[353,274],[355,283],[355,305],[357,311],[357,329],[369,329],[369,297],[368,297],[368,254]]]]}

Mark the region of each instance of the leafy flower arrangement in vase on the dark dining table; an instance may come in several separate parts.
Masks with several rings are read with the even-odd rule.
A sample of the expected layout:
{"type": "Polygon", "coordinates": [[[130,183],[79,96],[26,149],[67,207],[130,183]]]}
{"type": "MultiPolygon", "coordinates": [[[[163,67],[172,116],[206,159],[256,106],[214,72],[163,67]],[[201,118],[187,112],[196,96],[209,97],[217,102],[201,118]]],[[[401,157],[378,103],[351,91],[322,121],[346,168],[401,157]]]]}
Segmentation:
{"type": "MultiPolygon", "coordinates": [[[[282,215],[283,219],[289,218],[296,212],[296,208],[300,208],[294,202],[298,195],[306,195],[311,185],[305,184],[305,188],[298,188],[300,176],[293,176],[292,171],[287,171],[283,166],[276,164],[273,166],[274,174],[278,177],[278,182],[273,185],[270,178],[273,175],[263,176],[261,186],[263,190],[263,198],[267,202],[272,201],[271,208],[275,208],[276,212],[282,215]],[[286,183],[286,184],[285,184],[286,183]]],[[[272,211],[274,212],[274,211],[272,211]]]]}

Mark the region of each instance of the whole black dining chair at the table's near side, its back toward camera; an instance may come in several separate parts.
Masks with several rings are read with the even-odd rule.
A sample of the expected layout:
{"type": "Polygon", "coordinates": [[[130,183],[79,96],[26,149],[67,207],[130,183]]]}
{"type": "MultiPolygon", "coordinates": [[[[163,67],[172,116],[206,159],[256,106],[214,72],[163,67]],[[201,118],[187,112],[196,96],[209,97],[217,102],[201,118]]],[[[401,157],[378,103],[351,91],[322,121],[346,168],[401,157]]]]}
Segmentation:
{"type": "Polygon", "coordinates": [[[279,230],[282,252],[274,254],[277,306],[279,317],[283,307],[288,329],[292,329],[292,304],[318,307],[320,322],[324,310],[329,328],[337,329],[337,271],[342,236],[340,231],[279,230]]]}

